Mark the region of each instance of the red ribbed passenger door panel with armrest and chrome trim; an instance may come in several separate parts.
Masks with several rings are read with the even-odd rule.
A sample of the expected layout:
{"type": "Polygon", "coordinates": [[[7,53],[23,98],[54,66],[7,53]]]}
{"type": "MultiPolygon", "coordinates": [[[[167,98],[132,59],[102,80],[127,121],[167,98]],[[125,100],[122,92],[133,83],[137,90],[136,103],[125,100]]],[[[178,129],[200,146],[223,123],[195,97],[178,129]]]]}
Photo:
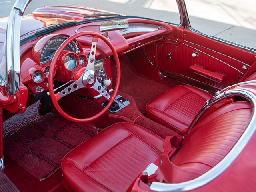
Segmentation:
{"type": "Polygon", "coordinates": [[[184,30],[182,42],[165,39],[148,50],[152,46],[162,74],[212,92],[239,82],[255,60],[253,52],[190,30],[184,30]]]}

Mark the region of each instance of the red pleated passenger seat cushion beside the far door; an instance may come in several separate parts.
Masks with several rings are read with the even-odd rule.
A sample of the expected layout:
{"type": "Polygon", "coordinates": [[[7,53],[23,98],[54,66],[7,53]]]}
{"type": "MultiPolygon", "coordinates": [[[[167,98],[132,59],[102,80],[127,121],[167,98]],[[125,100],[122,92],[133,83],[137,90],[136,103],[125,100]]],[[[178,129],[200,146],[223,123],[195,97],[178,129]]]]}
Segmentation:
{"type": "Polygon", "coordinates": [[[146,105],[146,114],[152,120],[182,133],[211,94],[196,87],[178,85],[164,92],[146,105]]]}

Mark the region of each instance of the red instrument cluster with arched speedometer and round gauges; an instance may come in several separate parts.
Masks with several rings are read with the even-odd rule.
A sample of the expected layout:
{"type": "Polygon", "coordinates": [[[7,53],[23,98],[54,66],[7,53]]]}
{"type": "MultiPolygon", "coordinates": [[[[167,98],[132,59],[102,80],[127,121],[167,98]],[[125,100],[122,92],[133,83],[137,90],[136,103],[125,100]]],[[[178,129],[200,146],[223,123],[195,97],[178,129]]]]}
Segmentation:
{"type": "MultiPolygon", "coordinates": [[[[60,45],[68,38],[64,34],[50,34],[44,36],[32,48],[31,53],[22,57],[21,68],[24,84],[30,89],[31,94],[39,94],[48,90],[48,76],[52,58],[60,45]],[[23,69],[27,70],[23,70],[23,69]]],[[[68,82],[73,71],[87,65],[90,46],[83,46],[73,40],[64,48],[56,64],[55,79],[61,82],[68,82]]],[[[104,72],[104,62],[95,62],[96,68],[104,72]],[[100,63],[100,64],[99,64],[100,63]]]]}

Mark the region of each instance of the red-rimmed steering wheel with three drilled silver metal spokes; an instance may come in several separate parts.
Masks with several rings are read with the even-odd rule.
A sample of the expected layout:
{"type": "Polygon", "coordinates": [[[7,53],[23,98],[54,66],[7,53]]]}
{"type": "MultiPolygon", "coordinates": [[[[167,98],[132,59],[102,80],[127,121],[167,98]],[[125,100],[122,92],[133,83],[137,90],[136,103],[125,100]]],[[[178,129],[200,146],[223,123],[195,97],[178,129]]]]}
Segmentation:
{"type": "Polygon", "coordinates": [[[52,63],[50,66],[49,78],[48,78],[48,88],[49,88],[49,93],[50,93],[50,98],[52,100],[52,104],[54,105],[56,110],[67,120],[70,120],[73,122],[90,122],[92,120],[95,120],[96,118],[98,118],[102,114],[104,114],[108,110],[108,108],[110,108],[111,104],[114,102],[114,99],[116,98],[116,94],[118,92],[119,85],[120,85],[120,76],[121,76],[121,72],[120,72],[120,62],[119,62],[118,55],[116,53],[114,46],[110,43],[110,41],[106,37],[104,37],[101,34],[98,34],[96,32],[79,32],[77,34],[74,34],[74,35],[70,36],[68,39],[66,39],[60,45],[60,47],[55,52],[55,54],[52,58],[52,63]],[[92,46],[91,46],[91,50],[90,50],[90,54],[89,54],[89,58],[88,58],[88,64],[86,66],[86,69],[85,69],[84,73],[80,76],[80,78],[78,78],[78,80],[76,80],[76,81],[74,80],[72,82],[72,84],[70,84],[68,87],[64,88],[63,90],[61,90],[57,93],[54,93],[53,78],[54,78],[54,74],[55,74],[55,66],[56,66],[56,63],[58,62],[60,54],[62,53],[64,48],[70,42],[72,42],[73,40],[75,40],[76,38],[79,38],[81,36],[92,36],[92,46]],[[109,48],[111,49],[111,51],[114,55],[114,59],[116,61],[116,70],[117,70],[116,71],[116,76],[117,76],[116,77],[116,86],[115,86],[112,96],[102,87],[101,83],[96,78],[94,62],[95,62],[95,56],[96,56],[96,46],[97,46],[97,42],[98,42],[99,38],[101,40],[103,40],[109,46],[109,48]],[[71,92],[74,92],[75,90],[78,90],[80,88],[85,88],[85,87],[93,88],[94,90],[99,92],[102,96],[104,96],[108,100],[108,104],[106,105],[105,108],[103,108],[98,114],[96,114],[94,116],[91,116],[89,118],[84,118],[84,119],[74,118],[73,116],[68,115],[66,112],[64,112],[62,110],[62,108],[58,104],[58,100],[60,100],[64,96],[70,94],[71,92]]]}

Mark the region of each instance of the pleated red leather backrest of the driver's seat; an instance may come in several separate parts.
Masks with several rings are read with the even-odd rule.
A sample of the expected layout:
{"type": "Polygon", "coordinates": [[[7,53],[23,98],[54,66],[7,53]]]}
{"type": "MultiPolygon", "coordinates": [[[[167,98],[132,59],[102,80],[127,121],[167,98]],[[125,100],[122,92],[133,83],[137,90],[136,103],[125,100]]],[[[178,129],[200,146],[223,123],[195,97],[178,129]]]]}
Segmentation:
{"type": "Polygon", "coordinates": [[[198,122],[171,160],[178,170],[172,173],[172,182],[194,179],[220,162],[248,126],[251,114],[250,103],[238,101],[198,122]]]}

